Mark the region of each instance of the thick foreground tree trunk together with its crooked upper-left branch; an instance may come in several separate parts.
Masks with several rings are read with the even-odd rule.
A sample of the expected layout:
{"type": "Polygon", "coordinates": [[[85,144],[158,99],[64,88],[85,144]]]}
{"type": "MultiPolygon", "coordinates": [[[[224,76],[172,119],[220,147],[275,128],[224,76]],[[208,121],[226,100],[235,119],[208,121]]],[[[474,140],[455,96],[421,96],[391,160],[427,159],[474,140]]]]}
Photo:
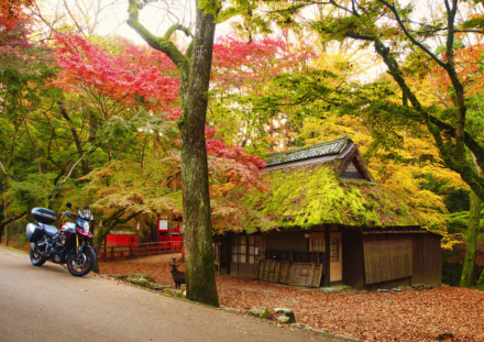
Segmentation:
{"type": "MultiPolygon", "coordinates": [[[[186,55],[170,42],[169,37],[176,30],[187,35],[190,34],[190,30],[175,24],[163,37],[154,36],[139,22],[139,10],[143,7],[139,0],[129,0],[128,23],[153,48],[164,52],[179,71],[187,298],[218,307],[205,142],[207,91],[209,90],[216,24],[213,14],[204,13],[204,10],[199,8],[199,2],[195,1],[197,5],[196,32],[186,55]]],[[[202,4],[207,11],[211,12],[220,5],[217,0],[205,0],[202,4]]]]}

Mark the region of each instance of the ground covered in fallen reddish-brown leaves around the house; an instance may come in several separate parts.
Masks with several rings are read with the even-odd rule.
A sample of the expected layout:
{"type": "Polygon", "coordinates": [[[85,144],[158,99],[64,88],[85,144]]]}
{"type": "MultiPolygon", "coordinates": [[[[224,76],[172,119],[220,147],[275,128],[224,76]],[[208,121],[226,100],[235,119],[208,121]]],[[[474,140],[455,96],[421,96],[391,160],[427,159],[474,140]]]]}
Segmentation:
{"type": "MultiPolygon", "coordinates": [[[[100,262],[100,273],[145,273],[175,286],[169,263],[180,254],[100,262]]],[[[360,341],[484,341],[484,291],[443,285],[403,291],[326,291],[217,276],[221,308],[289,308],[298,323],[360,341]]],[[[182,286],[185,289],[185,286],[182,286]]]]}

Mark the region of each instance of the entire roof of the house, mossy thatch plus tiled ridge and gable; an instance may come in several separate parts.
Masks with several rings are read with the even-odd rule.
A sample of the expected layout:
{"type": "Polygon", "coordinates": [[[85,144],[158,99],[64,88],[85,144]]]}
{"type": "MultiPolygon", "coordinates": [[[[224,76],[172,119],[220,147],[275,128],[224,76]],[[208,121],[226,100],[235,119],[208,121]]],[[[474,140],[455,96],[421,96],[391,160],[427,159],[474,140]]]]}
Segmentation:
{"type": "Polygon", "coordinates": [[[268,192],[254,191],[248,205],[280,228],[334,223],[364,228],[418,225],[392,192],[375,185],[356,145],[343,136],[266,157],[268,192]]]}

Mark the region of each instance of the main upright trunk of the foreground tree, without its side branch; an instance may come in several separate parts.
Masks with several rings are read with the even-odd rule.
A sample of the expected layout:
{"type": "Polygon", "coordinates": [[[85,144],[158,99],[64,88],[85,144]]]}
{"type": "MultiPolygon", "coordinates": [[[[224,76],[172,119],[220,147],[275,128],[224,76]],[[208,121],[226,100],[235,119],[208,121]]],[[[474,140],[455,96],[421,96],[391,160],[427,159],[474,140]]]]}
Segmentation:
{"type": "Polygon", "coordinates": [[[219,306],[217,294],[205,123],[216,25],[197,3],[186,103],[179,121],[184,184],[185,275],[187,298],[219,306]]]}

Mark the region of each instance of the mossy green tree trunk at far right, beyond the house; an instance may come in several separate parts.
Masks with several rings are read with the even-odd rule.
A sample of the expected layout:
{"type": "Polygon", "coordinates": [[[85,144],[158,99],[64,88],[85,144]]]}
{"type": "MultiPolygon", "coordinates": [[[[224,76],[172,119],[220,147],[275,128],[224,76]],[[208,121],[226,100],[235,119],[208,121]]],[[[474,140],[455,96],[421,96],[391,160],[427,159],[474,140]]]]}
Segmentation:
{"type": "Polygon", "coordinates": [[[479,228],[481,222],[482,200],[471,190],[471,209],[469,211],[468,231],[465,233],[465,258],[461,275],[461,287],[474,285],[475,252],[477,245],[479,228]]]}

